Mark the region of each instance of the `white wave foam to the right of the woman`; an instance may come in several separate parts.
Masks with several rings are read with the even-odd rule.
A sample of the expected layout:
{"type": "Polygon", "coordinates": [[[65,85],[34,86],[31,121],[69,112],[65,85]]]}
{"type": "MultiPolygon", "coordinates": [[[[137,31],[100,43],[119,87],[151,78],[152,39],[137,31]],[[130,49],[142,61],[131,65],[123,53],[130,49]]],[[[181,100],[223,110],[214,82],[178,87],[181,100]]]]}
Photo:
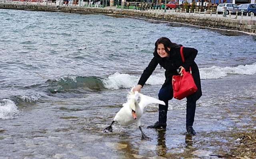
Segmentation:
{"type": "Polygon", "coordinates": [[[228,74],[254,75],[256,74],[256,64],[239,65],[237,67],[207,67],[199,69],[201,79],[220,79],[228,74]]]}

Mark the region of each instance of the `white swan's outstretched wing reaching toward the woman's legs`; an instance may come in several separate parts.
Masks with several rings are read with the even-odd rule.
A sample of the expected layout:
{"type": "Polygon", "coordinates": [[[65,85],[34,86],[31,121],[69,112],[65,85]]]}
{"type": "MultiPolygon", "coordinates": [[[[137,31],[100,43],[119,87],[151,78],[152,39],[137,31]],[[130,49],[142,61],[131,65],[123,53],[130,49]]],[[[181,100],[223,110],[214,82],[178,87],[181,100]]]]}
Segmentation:
{"type": "Polygon", "coordinates": [[[156,98],[146,96],[146,95],[141,94],[141,93],[139,93],[139,96],[140,96],[139,106],[140,106],[140,109],[142,110],[142,112],[148,104],[156,103],[156,104],[162,104],[162,105],[165,106],[165,103],[162,100],[158,100],[156,98]]]}

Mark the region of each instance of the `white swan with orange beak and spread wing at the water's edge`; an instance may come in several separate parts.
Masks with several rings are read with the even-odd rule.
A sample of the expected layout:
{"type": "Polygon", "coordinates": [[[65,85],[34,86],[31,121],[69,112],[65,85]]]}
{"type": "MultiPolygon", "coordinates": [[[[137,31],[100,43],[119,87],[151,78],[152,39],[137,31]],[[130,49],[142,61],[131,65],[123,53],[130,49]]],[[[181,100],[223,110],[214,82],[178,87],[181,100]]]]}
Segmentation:
{"type": "Polygon", "coordinates": [[[146,108],[146,106],[151,103],[165,105],[165,103],[161,100],[143,95],[137,91],[133,92],[131,90],[128,93],[127,102],[123,104],[123,107],[119,110],[119,112],[117,112],[110,126],[104,129],[104,132],[112,132],[112,124],[114,122],[118,122],[118,124],[121,126],[127,126],[132,123],[136,123],[142,134],[142,139],[147,139],[148,137],[142,132],[140,126],[140,118],[144,112],[144,108],[146,108]],[[138,97],[140,97],[139,103],[138,97]]]}

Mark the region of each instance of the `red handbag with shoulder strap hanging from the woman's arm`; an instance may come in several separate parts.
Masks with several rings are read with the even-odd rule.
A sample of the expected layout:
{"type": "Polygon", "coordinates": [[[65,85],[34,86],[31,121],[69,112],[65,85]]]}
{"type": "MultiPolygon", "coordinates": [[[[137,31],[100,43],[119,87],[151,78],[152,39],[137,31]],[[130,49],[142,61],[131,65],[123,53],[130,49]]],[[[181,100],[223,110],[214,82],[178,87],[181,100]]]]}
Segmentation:
{"type": "MultiPolygon", "coordinates": [[[[182,52],[183,46],[180,47],[180,56],[182,62],[184,63],[184,56],[182,52]]],[[[180,75],[172,76],[172,88],[173,88],[173,97],[182,100],[186,96],[189,96],[197,91],[197,86],[192,77],[192,71],[186,72],[185,70],[180,73],[180,75]]]]}

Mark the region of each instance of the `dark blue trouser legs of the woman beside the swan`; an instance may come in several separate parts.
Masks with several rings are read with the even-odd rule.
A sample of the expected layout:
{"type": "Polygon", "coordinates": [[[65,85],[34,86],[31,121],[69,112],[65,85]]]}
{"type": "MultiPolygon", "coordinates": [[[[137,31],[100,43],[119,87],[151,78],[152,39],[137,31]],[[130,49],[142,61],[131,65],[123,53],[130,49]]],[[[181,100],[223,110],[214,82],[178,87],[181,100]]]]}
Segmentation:
{"type": "MultiPolygon", "coordinates": [[[[173,98],[172,84],[166,84],[163,86],[158,93],[158,99],[164,101],[165,106],[159,104],[159,116],[158,121],[160,123],[166,123],[168,101],[173,98]]],[[[186,109],[186,126],[193,126],[194,117],[196,112],[196,100],[192,96],[187,96],[187,109],[186,109]]]]}

